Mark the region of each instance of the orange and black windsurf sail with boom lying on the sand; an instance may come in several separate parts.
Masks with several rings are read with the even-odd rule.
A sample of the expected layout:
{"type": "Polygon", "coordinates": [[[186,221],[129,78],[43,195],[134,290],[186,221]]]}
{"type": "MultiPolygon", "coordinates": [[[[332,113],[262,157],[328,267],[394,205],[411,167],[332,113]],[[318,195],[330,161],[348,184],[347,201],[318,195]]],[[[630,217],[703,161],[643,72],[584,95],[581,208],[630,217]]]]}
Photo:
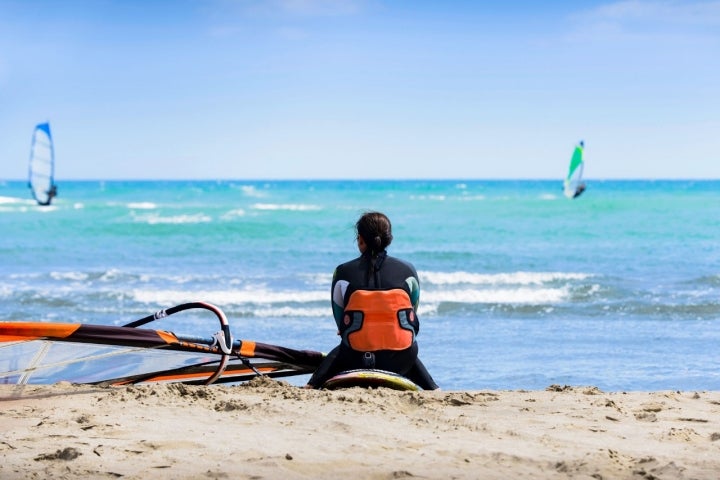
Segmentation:
{"type": "Polygon", "coordinates": [[[323,357],[312,350],[233,340],[225,315],[205,302],[161,310],[124,326],[0,322],[0,383],[209,385],[312,373],[323,357]],[[215,313],[221,330],[205,338],[137,328],[194,308],[215,313]]]}

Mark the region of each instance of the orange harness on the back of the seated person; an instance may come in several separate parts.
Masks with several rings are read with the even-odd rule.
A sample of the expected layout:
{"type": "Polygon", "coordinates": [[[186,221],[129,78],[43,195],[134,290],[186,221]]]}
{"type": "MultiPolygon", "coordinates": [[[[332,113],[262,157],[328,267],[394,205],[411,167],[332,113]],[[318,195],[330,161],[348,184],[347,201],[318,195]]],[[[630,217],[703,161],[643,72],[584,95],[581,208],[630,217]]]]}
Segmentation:
{"type": "Polygon", "coordinates": [[[415,341],[415,311],[400,288],[352,292],[343,323],[343,341],[353,350],[405,350],[415,341]]]}

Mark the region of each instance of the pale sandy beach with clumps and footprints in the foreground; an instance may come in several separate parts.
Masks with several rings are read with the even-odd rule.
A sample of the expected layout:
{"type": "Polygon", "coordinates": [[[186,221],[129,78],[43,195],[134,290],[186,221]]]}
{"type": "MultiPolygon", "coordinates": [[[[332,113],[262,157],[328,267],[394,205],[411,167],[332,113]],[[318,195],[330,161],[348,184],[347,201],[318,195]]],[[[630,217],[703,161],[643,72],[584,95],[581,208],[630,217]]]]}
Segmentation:
{"type": "Polygon", "coordinates": [[[720,392],[0,386],[0,478],[716,479],[720,392]]]}

